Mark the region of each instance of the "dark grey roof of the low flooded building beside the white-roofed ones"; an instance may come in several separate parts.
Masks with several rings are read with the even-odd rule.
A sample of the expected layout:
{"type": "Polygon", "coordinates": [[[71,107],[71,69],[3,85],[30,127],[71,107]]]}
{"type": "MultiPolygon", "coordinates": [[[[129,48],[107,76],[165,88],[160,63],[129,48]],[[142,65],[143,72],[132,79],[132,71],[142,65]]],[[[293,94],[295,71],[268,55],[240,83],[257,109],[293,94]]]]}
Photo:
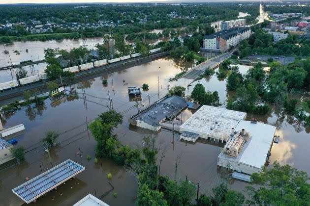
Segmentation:
{"type": "Polygon", "coordinates": [[[165,96],[131,119],[138,119],[149,125],[156,126],[164,119],[174,118],[186,106],[186,100],[182,97],[165,96]]]}

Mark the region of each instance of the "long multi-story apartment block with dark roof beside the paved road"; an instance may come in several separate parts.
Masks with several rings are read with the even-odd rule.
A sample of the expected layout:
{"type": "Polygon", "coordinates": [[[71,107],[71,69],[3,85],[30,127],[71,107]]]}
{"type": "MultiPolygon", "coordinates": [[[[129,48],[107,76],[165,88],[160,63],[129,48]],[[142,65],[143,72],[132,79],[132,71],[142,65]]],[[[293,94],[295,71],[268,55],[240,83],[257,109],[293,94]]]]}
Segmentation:
{"type": "Polygon", "coordinates": [[[231,47],[238,45],[242,40],[251,35],[248,27],[238,27],[219,31],[203,38],[201,51],[225,52],[231,47]]]}

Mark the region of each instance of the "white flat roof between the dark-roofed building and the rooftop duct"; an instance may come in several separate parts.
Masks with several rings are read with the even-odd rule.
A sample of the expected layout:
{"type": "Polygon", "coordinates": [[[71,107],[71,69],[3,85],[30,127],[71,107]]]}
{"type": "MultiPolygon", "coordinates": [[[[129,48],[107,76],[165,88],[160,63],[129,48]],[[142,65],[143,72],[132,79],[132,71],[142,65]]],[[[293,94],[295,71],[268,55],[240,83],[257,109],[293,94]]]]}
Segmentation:
{"type": "Polygon", "coordinates": [[[180,131],[228,139],[231,129],[236,128],[247,113],[226,108],[203,105],[180,127],[180,131]]]}

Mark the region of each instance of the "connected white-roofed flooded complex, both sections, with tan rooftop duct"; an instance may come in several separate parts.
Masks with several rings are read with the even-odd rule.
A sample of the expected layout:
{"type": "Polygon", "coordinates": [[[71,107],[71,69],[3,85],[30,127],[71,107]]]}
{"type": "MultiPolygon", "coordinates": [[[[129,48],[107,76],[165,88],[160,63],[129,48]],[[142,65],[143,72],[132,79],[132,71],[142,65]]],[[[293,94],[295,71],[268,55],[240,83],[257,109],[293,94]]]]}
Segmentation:
{"type": "Polygon", "coordinates": [[[247,113],[203,105],[181,127],[180,139],[225,143],[217,165],[239,173],[260,173],[271,155],[276,127],[245,121],[247,113]]]}

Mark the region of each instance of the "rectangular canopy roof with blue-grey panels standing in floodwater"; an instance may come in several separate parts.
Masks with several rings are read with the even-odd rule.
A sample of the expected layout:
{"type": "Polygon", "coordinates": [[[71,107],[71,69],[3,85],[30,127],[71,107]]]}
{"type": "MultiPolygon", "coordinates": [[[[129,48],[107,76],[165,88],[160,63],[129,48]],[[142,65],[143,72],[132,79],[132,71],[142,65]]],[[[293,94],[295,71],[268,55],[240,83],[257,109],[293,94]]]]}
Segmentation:
{"type": "Polygon", "coordinates": [[[27,204],[84,171],[85,167],[68,159],[52,169],[12,189],[27,204]]]}

